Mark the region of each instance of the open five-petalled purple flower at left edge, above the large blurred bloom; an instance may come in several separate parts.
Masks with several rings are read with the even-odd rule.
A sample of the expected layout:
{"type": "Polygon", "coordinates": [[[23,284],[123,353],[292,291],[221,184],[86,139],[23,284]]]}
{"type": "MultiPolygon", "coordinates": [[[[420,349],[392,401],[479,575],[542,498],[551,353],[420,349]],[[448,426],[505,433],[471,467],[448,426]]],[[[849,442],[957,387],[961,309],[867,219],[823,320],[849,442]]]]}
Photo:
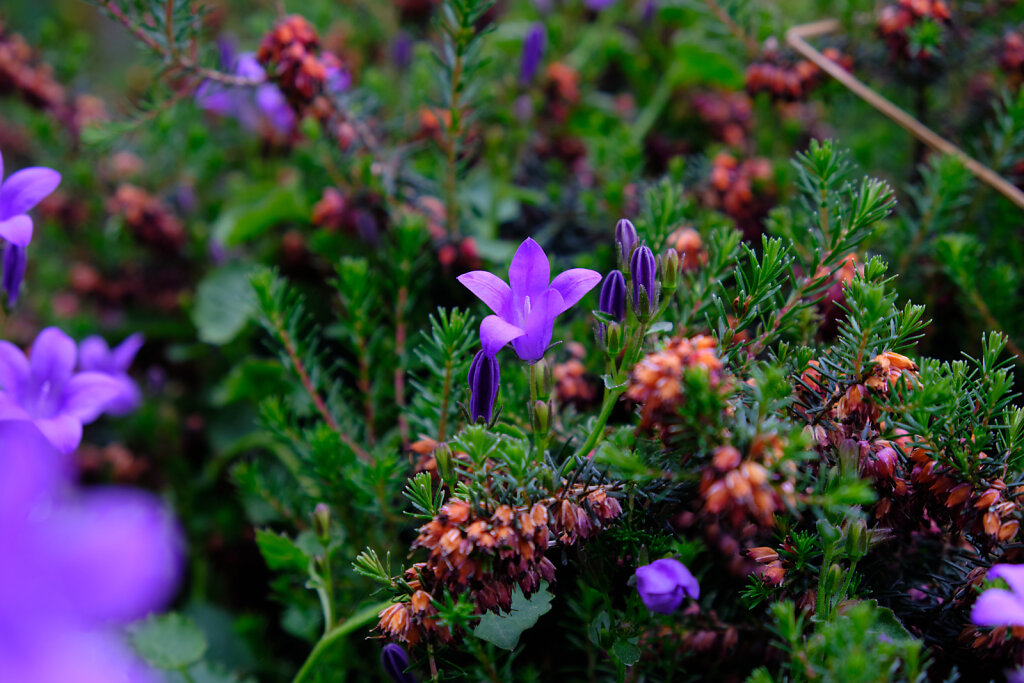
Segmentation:
{"type": "Polygon", "coordinates": [[[71,453],[82,441],[82,425],[99,417],[122,386],[103,373],[76,373],[78,347],[56,328],[39,333],[31,359],[0,341],[0,420],[35,423],[50,443],[71,453]]]}

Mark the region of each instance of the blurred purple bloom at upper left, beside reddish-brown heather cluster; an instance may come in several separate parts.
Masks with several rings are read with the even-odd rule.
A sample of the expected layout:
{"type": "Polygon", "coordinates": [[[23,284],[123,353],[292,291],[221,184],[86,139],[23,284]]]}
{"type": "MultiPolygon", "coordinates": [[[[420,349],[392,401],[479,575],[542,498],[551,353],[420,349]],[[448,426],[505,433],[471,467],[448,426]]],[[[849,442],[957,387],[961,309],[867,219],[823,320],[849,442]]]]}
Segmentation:
{"type": "MultiPolygon", "coordinates": [[[[231,56],[230,47],[221,45],[224,68],[236,76],[260,81],[252,87],[230,86],[214,81],[204,81],[196,90],[196,102],[208,112],[238,119],[249,130],[259,131],[266,125],[283,135],[294,130],[295,112],[281,89],[272,83],[265,83],[266,72],[252,52],[231,56]]],[[[337,78],[337,75],[336,75],[337,78]]]]}

